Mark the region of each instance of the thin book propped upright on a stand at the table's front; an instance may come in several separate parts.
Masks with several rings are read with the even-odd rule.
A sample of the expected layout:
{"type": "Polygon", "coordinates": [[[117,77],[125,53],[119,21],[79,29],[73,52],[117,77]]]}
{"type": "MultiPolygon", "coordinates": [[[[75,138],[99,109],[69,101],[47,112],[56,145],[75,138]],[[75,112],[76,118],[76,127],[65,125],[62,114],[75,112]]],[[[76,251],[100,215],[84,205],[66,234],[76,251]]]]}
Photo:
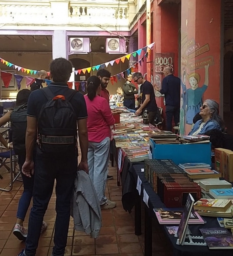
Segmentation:
{"type": "Polygon", "coordinates": [[[179,238],[179,244],[183,245],[186,239],[188,231],[188,221],[190,218],[191,211],[193,209],[194,199],[191,194],[188,194],[187,201],[184,207],[184,212],[181,216],[181,222],[177,231],[177,237],[179,238]]]}

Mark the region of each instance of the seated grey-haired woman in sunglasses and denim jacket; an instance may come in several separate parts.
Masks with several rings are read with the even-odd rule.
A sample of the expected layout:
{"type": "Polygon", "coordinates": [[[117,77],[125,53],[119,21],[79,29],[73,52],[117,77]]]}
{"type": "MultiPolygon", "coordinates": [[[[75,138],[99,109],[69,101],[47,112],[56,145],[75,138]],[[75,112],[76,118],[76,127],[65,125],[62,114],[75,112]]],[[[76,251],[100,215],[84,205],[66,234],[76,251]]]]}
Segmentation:
{"type": "Polygon", "coordinates": [[[198,120],[191,129],[188,135],[205,134],[207,131],[217,129],[224,131],[224,121],[219,116],[219,104],[212,100],[207,99],[200,107],[200,116],[202,119],[198,120]]]}

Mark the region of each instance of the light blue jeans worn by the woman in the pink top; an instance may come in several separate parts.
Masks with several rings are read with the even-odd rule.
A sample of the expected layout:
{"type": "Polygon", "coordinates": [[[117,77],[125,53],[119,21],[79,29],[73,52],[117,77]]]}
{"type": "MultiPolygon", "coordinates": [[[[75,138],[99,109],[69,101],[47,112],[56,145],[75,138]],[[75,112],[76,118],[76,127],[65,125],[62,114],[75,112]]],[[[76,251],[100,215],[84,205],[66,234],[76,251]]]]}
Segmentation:
{"type": "Polygon", "coordinates": [[[101,205],[108,202],[105,196],[105,188],[108,175],[109,151],[110,138],[107,137],[99,143],[89,141],[87,155],[89,176],[94,184],[101,205]]]}

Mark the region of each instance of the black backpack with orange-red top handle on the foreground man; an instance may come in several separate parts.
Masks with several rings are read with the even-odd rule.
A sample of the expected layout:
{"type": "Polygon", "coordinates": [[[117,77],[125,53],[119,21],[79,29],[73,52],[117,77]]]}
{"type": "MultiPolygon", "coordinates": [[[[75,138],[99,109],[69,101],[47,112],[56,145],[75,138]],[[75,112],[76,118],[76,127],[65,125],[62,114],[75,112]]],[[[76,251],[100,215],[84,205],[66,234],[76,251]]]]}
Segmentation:
{"type": "Polygon", "coordinates": [[[40,89],[47,102],[42,106],[38,118],[38,145],[43,153],[71,155],[77,149],[77,115],[69,102],[77,92],[67,88],[63,95],[45,87],[40,89]]]}

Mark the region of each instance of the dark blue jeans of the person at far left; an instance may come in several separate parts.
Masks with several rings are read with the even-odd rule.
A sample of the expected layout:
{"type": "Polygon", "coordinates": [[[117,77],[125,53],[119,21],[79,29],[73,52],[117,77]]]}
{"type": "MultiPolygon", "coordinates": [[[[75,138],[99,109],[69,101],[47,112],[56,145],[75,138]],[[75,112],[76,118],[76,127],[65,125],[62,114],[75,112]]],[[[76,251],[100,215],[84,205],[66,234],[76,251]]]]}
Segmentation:
{"type": "MultiPolygon", "coordinates": [[[[18,163],[19,163],[20,171],[22,171],[22,166],[25,162],[25,158],[26,158],[25,154],[18,155],[18,163]]],[[[16,217],[24,221],[28,211],[28,207],[31,202],[31,198],[32,198],[34,176],[32,176],[32,178],[28,178],[22,174],[22,179],[23,179],[23,194],[19,199],[19,205],[18,205],[18,211],[17,211],[16,217]]]]}

